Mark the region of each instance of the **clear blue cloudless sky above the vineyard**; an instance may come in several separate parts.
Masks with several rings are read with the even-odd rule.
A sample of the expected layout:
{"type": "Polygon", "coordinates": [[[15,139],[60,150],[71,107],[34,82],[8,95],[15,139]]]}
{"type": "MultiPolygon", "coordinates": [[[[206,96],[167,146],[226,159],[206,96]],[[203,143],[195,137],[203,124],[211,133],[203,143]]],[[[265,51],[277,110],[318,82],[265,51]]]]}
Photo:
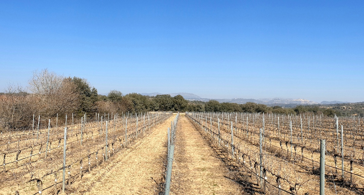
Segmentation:
{"type": "MultiPolygon", "coordinates": [[[[0,89],[364,101],[364,1],[0,1],[0,89]],[[132,3],[131,3],[132,2],[132,3]]],[[[0,90],[1,91],[1,90],[0,90]]]]}

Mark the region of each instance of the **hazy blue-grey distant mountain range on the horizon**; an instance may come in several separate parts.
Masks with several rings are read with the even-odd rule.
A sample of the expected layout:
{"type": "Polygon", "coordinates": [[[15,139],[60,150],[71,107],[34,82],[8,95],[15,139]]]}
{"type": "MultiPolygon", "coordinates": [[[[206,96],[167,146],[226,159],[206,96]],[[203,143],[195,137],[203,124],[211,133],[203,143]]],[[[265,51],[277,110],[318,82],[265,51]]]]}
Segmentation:
{"type": "MultiPolygon", "coordinates": [[[[156,95],[163,95],[163,93],[141,93],[142,95],[148,95],[148,96],[156,96],[156,95]]],[[[284,105],[284,104],[290,104],[290,105],[312,105],[312,104],[342,104],[342,103],[349,103],[349,102],[339,102],[339,101],[323,101],[321,103],[314,102],[311,100],[306,99],[290,99],[290,98],[264,98],[264,99],[245,99],[245,98],[233,98],[233,99],[210,99],[210,98],[201,98],[198,95],[195,95],[193,93],[167,93],[171,95],[172,97],[176,95],[182,95],[183,98],[186,100],[199,100],[202,102],[208,102],[209,100],[217,100],[218,102],[229,102],[229,103],[238,103],[238,104],[245,104],[247,102],[254,102],[258,104],[266,104],[269,106],[274,105],[284,105]]]]}

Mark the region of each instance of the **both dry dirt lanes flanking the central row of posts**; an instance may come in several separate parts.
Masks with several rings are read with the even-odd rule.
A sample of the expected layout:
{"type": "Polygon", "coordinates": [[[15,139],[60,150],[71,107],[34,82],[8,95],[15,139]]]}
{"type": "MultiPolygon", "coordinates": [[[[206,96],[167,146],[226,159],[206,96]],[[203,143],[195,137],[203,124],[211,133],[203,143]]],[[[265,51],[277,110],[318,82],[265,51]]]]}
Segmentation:
{"type": "MultiPolygon", "coordinates": [[[[174,117],[85,174],[67,194],[156,194],[167,153],[166,130],[174,117]]],[[[170,194],[241,194],[240,186],[225,177],[227,168],[185,115],[180,115],[174,154],[170,194]]]]}

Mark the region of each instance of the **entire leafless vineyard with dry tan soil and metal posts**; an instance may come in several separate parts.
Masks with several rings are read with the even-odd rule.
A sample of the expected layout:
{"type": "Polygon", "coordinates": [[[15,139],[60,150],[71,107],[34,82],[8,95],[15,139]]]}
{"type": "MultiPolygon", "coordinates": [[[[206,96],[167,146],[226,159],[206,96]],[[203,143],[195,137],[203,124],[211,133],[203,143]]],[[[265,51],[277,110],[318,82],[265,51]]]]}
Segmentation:
{"type": "Polygon", "coordinates": [[[33,115],[1,134],[0,194],[320,194],[320,166],[325,194],[363,194],[363,127],[312,114],[33,115]]]}

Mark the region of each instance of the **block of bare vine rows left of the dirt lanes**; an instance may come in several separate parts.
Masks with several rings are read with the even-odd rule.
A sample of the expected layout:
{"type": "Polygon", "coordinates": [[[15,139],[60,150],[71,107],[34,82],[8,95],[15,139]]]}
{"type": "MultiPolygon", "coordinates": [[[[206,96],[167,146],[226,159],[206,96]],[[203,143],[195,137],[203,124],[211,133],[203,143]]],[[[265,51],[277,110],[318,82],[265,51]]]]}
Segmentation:
{"type": "Polygon", "coordinates": [[[90,121],[85,114],[77,124],[73,117],[67,124],[66,116],[62,126],[58,126],[58,119],[56,124],[48,120],[46,129],[39,129],[38,120],[35,129],[33,123],[31,130],[1,134],[1,193],[67,191],[84,173],[128,147],[138,136],[169,118],[171,112],[96,116],[90,121]]]}

